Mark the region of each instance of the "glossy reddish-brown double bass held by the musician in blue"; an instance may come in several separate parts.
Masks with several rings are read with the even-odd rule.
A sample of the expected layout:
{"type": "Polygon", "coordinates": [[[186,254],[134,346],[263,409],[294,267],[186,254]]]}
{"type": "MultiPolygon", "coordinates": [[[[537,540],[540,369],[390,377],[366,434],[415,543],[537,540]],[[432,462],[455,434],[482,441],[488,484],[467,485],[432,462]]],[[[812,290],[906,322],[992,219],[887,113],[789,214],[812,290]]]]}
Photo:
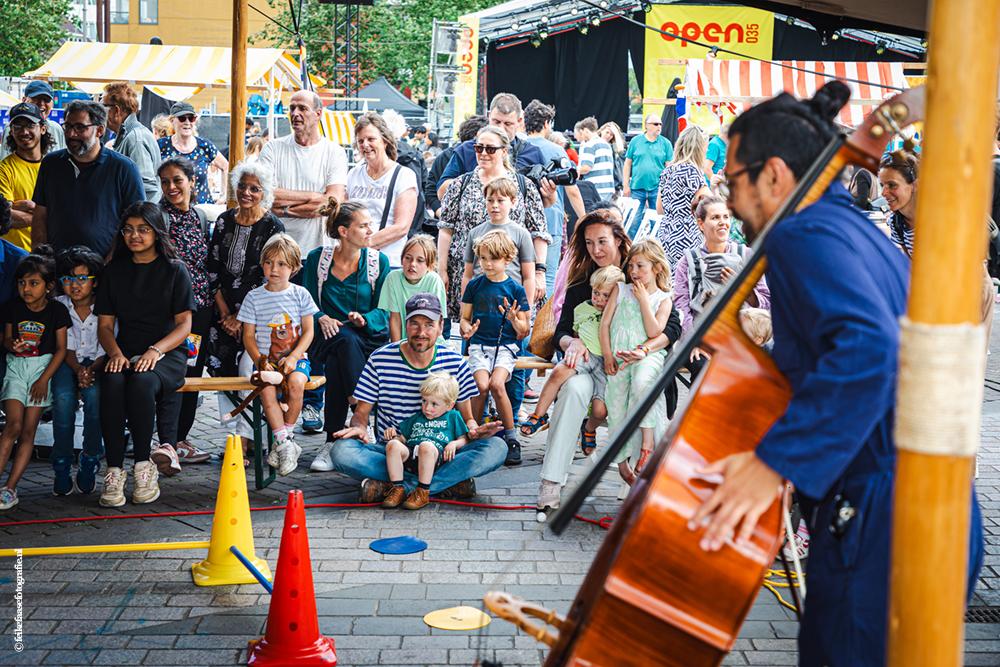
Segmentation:
{"type": "Polygon", "coordinates": [[[703,530],[687,524],[722,480],[699,471],[753,450],[791,399],[787,380],[740,327],[740,306],[764,274],[760,249],[770,230],[819,199],[845,166],[877,171],[889,138],[922,117],[923,101],[923,88],[901,93],[825,147],[758,233],[756,252],[675,345],[657,385],[553,517],[551,527],[561,533],[694,347],[708,351],[687,404],[615,517],[569,613],[502,592],[484,598],[491,611],[552,647],[546,667],[701,667],[718,665],[732,649],[781,546],[787,494],[776,491],[747,543],[730,539],[706,552],[699,547],[703,530]]]}

